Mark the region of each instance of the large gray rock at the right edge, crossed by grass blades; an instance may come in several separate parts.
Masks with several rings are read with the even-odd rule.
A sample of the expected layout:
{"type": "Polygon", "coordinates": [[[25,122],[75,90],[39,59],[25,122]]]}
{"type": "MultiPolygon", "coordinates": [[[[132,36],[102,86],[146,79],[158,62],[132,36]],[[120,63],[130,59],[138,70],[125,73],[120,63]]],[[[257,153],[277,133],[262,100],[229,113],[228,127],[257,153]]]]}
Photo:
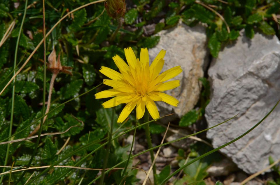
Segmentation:
{"type": "MultiPolygon", "coordinates": [[[[212,85],[206,107],[209,127],[239,115],[207,132],[214,147],[237,138],[258,123],[280,99],[280,42],[276,36],[256,33],[252,40],[244,31],[211,63],[212,85]]],[[[221,152],[245,172],[268,166],[268,157],[280,155],[280,106],[257,128],[221,152]]]]}

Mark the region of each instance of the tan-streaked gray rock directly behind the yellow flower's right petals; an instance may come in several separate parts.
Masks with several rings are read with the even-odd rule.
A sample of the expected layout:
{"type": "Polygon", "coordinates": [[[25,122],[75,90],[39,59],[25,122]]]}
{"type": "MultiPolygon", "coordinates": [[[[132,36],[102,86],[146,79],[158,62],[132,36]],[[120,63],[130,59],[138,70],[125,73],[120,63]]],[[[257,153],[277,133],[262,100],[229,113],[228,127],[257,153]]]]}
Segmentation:
{"type": "Polygon", "coordinates": [[[202,85],[198,79],[204,76],[209,56],[205,28],[201,25],[190,28],[180,23],[174,28],[160,31],[157,35],[160,36],[160,41],[156,47],[149,50],[150,62],[164,49],[167,52],[162,71],[178,65],[183,69],[181,74],[171,79],[180,80],[181,85],[166,91],[179,100],[178,106],[170,106],[164,102],[157,102],[157,105],[161,116],[174,111],[177,117],[181,117],[194,108],[199,99],[202,85]]]}

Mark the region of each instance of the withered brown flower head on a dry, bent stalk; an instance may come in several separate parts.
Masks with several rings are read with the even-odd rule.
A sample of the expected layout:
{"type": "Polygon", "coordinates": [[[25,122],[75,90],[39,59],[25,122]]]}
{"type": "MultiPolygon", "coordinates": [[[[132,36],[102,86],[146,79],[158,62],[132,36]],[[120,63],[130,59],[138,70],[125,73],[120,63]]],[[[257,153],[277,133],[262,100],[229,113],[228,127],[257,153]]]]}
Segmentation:
{"type": "Polygon", "coordinates": [[[48,57],[48,69],[51,72],[56,73],[56,74],[63,72],[63,73],[72,75],[71,71],[69,71],[70,69],[72,69],[72,67],[61,65],[60,53],[58,54],[58,57],[56,59],[55,49],[53,49],[53,51],[50,53],[50,55],[48,57]]]}

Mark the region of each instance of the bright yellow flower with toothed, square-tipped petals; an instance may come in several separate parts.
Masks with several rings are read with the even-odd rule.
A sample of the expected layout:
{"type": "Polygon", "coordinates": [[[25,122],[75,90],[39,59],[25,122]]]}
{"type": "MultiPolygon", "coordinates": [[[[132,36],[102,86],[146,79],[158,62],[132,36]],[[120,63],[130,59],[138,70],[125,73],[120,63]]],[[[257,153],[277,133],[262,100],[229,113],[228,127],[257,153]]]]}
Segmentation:
{"type": "Polygon", "coordinates": [[[113,60],[120,70],[120,73],[108,67],[102,66],[99,70],[102,74],[109,77],[103,81],[104,84],[113,87],[113,89],[104,90],[95,94],[95,98],[114,97],[102,105],[104,108],[111,108],[125,103],[126,106],[120,113],[118,123],[123,122],[136,106],[136,118],[139,120],[145,113],[147,107],[153,119],[160,115],[154,101],[163,101],[172,106],[178,105],[178,100],[170,95],[162,93],[164,90],[170,90],[180,85],[179,80],[167,81],[176,77],[182,72],[180,66],[173,67],[160,74],[164,65],[164,50],[156,56],[155,60],[149,65],[149,55],[147,48],[141,48],[140,60],[135,57],[131,47],[125,48],[125,61],[116,55],[113,60]]]}

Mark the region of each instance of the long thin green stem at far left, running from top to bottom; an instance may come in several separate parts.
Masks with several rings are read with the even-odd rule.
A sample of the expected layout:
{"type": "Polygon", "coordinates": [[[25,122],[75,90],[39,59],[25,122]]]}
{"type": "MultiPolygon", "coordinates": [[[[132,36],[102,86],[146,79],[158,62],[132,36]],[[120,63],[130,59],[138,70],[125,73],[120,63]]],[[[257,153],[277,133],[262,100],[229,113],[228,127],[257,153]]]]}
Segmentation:
{"type": "MultiPolygon", "coordinates": [[[[21,21],[21,24],[20,24],[20,30],[19,30],[19,33],[18,33],[18,36],[17,36],[17,43],[16,43],[16,45],[15,45],[15,59],[14,59],[14,69],[13,69],[13,70],[14,70],[14,72],[13,72],[14,75],[15,75],[15,68],[16,68],[16,66],[17,66],[17,50],[18,50],[18,45],[19,45],[19,43],[20,43],[20,35],[21,35],[21,30],[22,30],[23,22],[24,22],[25,15],[26,15],[27,3],[28,3],[28,0],[25,1],[24,14],[23,14],[22,21],[21,21]]],[[[15,79],[13,79],[12,107],[11,107],[9,137],[12,135],[13,118],[14,118],[14,104],[15,104],[15,79]]],[[[11,138],[10,138],[9,140],[11,140],[11,138]]],[[[5,157],[5,161],[4,161],[4,166],[6,166],[7,163],[8,163],[9,152],[10,152],[10,144],[7,145],[7,150],[6,150],[6,157],[5,157]]],[[[5,170],[6,170],[6,169],[3,168],[2,171],[4,172],[5,170]]],[[[0,184],[2,184],[2,181],[3,181],[3,176],[2,176],[1,179],[0,179],[0,184]]]]}

